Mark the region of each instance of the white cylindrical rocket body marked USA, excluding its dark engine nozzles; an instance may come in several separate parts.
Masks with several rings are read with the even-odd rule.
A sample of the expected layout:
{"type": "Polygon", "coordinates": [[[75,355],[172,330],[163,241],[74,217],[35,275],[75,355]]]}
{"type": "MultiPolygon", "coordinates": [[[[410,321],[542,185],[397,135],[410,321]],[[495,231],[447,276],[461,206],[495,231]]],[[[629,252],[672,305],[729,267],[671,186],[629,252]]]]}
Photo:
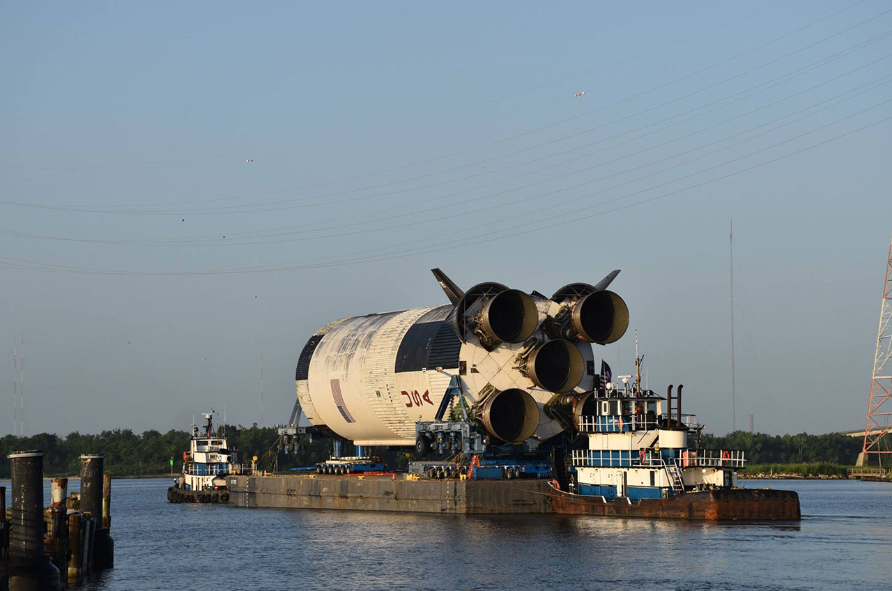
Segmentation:
{"type": "MultiPolygon", "coordinates": [[[[534,305],[526,310],[533,316],[527,318],[527,326],[535,330],[529,337],[524,333],[519,343],[493,345],[485,331],[457,329],[457,322],[469,322],[460,313],[456,320],[456,310],[464,309],[464,299],[456,305],[368,314],[329,323],[310,337],[297,364],[297,396],[303,412],[314,426],[330,429],[356,445],[415,445],[416,421],[434,420],[450,378],[458,376],[465,399],[472,405],[491,398],[493,392],[514,393],[517,399],[524,399],[525,411],[513,402],[507,408],[507,401],[514,399],[505,395],[502,408],[494,408],[491,417],[487,415],[494,429],[510,423],[508,429],[514,432],[520,429],[516,424],[520,420],[529,430],[533,425],[535,429],[532,434],[529,430],[518,431],[518,437],[532,435],[545,440],[557,435],[564,427],[543,411],[556,391],[537,385],[534,370],[532,375],[528,370],[533,365],[526,360],[537,345],[555,340],[545,334],[542,324],[566,304],[538,294],[523,296],[534,305]],[[532,397],[534,407],[523,393],[532,397]]],[[[494,322],[499,320],[498,313],[490,317],[494,322]]],[[[570,357],[577,364],[582,362],[572,383],[561,387],[560,392],[591,390],[597,379],[591,343],[557,340],[562,341],[557,345],[578,351],[578,359],[572,351],[570,357]]]]}

